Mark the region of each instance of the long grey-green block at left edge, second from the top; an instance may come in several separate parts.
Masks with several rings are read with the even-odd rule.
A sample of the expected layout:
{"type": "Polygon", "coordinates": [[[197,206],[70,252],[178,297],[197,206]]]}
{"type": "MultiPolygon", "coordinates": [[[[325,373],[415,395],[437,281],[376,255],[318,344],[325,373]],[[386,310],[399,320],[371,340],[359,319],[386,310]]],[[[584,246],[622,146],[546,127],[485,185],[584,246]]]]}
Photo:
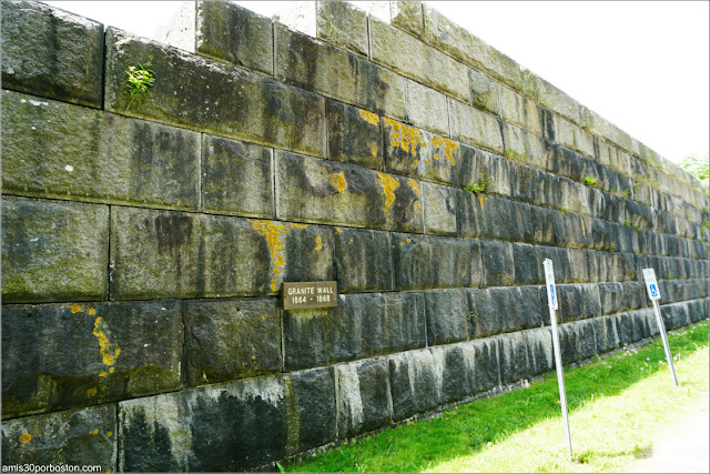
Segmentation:
{"type": "Polygon", "coordinates": [[[200,137],[6,91],[4,192],[114,203],[200,205],[200,137]]]}

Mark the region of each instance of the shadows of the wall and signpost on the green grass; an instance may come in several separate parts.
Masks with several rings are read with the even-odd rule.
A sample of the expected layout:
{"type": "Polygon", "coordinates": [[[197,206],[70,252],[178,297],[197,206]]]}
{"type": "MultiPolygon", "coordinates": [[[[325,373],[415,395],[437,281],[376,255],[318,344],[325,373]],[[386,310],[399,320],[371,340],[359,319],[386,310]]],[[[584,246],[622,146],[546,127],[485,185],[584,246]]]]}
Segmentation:
{"type": "MultiPolygon", "coordinates": [[[[701,323],[702,324],[702,323],[701,323]]],[[[684,356],[708,345],[708,326],[686,331],[670,341],[674,354],[684,356]],[[699,330],[699,331],[698,331],[699,330]],[[694,343],[694,344],[693,344],[694,343]],[[690,344],[690,345],[689,345],[690,344]],[[682,346],[689,345],[688,350],[682,346]]],[[[635,383],[666,370],[660,341],[626,351],[582,367],[565,370],[569,411],[599,397],[615,396],[635,383]],[[649,360],[651,362],[649,362],[649,360]],[[643,370],[641,370],[641,367],[643,370]]],[[[372,437],[346,444],[314,460],[291,464],[293,472],[420,472],[459,456],[469,456],[547,418],[561,418],[556,374],[542,382],[497,397],[475,401],[442,416],[387,428],[372,437]]],[[[561,433],[561,428],[560,428],[561,433]]],[[[561,434],[560,434],[561,436],[561,434]]],[[[632,453],[586,452],[577,462],[591,457],[648,455],[650,447],[632,453]]]]}

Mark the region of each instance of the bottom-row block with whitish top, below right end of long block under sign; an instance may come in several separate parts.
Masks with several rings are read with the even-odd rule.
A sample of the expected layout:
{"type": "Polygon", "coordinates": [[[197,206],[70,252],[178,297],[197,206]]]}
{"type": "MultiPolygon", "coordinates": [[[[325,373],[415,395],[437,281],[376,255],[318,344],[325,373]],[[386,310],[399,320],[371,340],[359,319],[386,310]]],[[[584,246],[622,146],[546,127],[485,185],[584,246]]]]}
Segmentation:
{"type": "Polygon", "coordinates": [[[394,420],[405,420],[439,404],[440,365],[430,350],[410,351],[388,359],[394,420]]]}

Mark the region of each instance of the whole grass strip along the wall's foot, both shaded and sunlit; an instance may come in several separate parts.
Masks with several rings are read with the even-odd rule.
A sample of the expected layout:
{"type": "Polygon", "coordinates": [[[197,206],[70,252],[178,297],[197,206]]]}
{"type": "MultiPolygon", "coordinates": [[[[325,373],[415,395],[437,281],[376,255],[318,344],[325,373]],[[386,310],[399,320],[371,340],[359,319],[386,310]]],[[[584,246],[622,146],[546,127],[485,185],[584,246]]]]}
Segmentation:
{"type": "Polygon", "coordinates": [[[290,472],[619,472],[708,392],[708,322],[669,334],[680,387],[660,340],[565,370],[575,461],[567,455],[557,379],[442,416],[387,428],[290,472]]]}

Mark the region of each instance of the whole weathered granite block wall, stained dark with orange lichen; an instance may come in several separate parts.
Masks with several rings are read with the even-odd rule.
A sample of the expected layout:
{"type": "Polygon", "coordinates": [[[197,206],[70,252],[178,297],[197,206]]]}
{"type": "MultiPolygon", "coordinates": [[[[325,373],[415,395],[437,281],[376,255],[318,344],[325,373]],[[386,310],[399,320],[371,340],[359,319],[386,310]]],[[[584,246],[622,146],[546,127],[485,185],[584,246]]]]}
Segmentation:
{"type": "Polygon", "coordinates": [[[546,258],[566,364],[656,336],[647,266],[708,317],[707,188],[419,2],[190,3],[159,43],[2,0],[1,100],[4,464],[273,468],[520,385],[546,258]]]}

